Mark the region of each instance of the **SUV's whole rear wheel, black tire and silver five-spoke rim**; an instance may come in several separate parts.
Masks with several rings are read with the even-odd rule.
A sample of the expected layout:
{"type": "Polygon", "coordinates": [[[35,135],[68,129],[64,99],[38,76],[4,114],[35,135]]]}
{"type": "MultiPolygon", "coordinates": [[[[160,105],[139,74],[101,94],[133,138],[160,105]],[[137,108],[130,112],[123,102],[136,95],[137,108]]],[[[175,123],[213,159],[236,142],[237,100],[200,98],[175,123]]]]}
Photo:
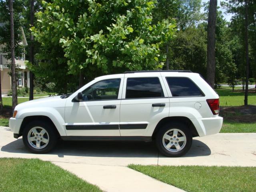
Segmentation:
{"type": "Polygon", "coordinates": [[[182,123],[165,124],[156,135],[156,145],[159,151],[169,157],[179,157],[190,149],[192,134],[182,123]]]}

